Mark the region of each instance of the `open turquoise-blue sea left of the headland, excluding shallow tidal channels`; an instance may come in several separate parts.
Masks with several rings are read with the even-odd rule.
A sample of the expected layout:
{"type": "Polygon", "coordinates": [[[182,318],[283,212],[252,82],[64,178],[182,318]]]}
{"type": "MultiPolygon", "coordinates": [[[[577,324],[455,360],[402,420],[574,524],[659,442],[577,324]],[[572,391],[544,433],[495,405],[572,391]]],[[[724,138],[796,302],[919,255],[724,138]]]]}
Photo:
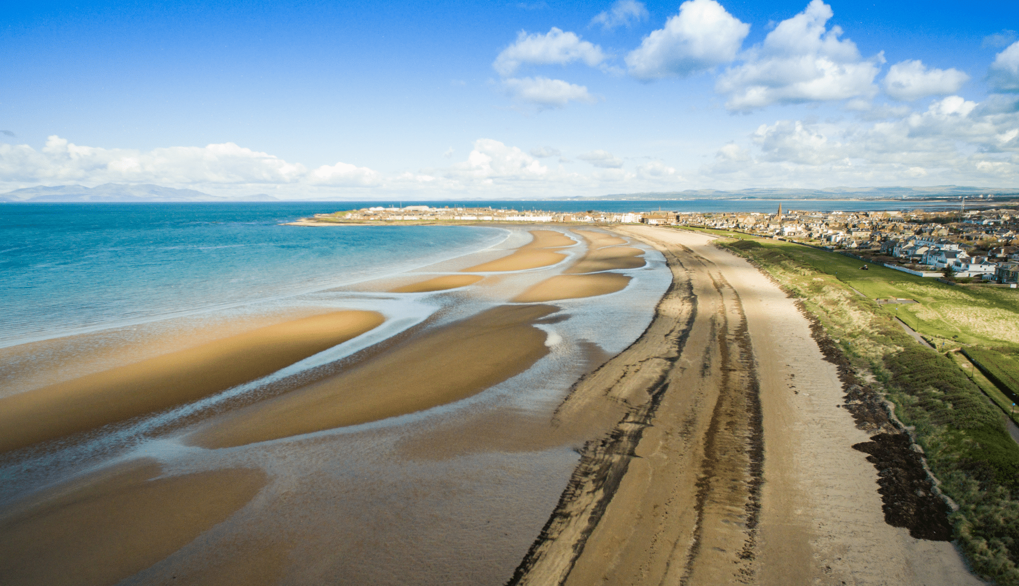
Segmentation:
{"type": "Polygon", "coordinates": [[[499,243],[488,227],[281,226],[328,205],[0,207],[0,348],[281,299],[499,243]]]}

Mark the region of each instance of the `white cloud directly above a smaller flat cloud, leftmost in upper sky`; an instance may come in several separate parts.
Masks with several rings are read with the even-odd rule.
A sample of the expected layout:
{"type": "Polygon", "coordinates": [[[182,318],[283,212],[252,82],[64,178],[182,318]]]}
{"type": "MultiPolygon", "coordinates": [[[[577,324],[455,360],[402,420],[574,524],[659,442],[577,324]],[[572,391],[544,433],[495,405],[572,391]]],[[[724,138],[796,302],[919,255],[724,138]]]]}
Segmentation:
{"type": "Polygon", "coordinates": [[[555,26],[542,35],[528,35],[521,31],[517,42],[502,50],[495,57],[492,67],[499,75],[514,74],[521,65],[566,65],[575,61],[594,67],[605,60],[605,54],[597,45],[581,41],[576,33],[565,33],[555,26]]]}

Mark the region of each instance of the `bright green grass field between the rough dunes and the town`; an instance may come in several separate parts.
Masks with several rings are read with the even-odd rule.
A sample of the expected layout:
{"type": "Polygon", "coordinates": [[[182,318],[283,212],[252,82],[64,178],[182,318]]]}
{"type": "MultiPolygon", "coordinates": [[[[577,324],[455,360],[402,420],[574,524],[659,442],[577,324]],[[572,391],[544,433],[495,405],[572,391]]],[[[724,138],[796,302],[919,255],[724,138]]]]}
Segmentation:
{"type": "Polygon", "coordinates": [[[868,265],[839,253],[725,230],[699,230],[752,239],[814,269],[833,275],[863,297],[911,299],[917,304],[887,305],[879,311],[899,317],[928,339],[1019,348],[1019,289],[950,285],[881,265],[868,265]]]}

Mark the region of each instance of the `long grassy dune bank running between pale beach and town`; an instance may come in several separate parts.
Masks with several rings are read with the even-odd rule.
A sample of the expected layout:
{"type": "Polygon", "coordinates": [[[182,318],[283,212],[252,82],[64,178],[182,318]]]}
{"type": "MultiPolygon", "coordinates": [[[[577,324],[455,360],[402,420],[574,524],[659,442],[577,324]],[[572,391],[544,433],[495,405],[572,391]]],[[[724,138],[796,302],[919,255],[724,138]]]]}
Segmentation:
{"type": "MultiPolygon", "coordinates": [[[[917,344],[894,321],[895,312],[874,302],[921,297],[925,305],[949,302],[944,310],[966,307],[972,303],[970,294],[942,285],[953,289],[945,291],[941,283],[882,267],[860,271],[859,261],[792,243],[744,238],[720,245],[751,259],[803,300],[853,369],[872,380],[895,405],[898,418],[913,428],[941,489],[958,504],[950,516],[953,536],[974,571],[999,584],[1019,585],[1019,445],[1008,435],[1001,410],[951,358],[917,344]]],[[[999,303],[987,301],[983,307],[1015,315],[1015,308],[1002,309],[999,303]]],[[[937,327],[966,329],[949,317],[937,327]]],[[[938,322],[924,317],[916,323],[929,327],[938,322]]],[[[1001,339],[986,333],[975,327],[965,335],[1001,339]]]]}

